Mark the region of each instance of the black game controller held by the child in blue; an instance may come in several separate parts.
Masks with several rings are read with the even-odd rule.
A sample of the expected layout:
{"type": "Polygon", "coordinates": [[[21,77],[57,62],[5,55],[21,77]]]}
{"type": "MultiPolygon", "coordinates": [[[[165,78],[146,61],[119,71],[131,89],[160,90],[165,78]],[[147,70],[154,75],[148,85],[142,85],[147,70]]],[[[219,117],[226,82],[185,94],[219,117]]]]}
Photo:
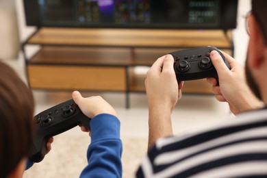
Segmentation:
{"type": "Polygon", "coordinates": [[[34,146],[29,159],[40,162],[47,153],[47,140],[81,124],[90,129],[90,118],[84,115],[73,99],[55,105],[34,116],[34,146]]]}

